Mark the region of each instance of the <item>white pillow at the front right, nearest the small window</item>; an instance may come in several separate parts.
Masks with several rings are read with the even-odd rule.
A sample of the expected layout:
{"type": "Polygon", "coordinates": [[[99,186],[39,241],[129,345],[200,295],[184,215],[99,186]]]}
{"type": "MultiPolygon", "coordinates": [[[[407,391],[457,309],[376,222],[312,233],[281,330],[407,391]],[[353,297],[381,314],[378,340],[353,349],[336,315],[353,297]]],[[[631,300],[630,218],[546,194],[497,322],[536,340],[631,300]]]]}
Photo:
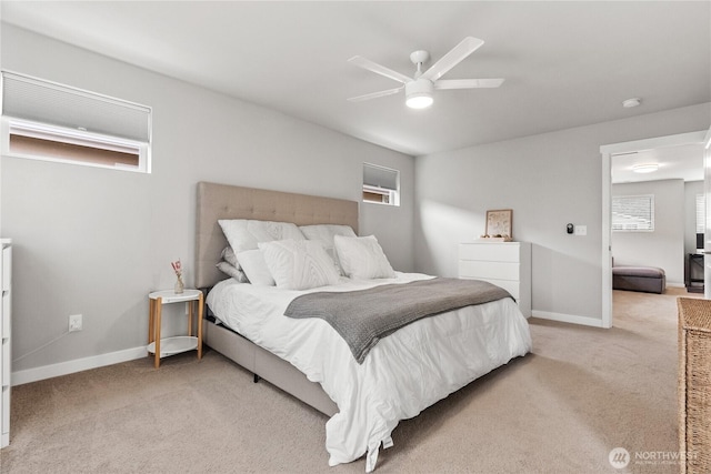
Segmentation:
{"type": "Polygon", "coordinates": [[[392,279],[392,270],[388,258],[374,235],[363,238],[333,238],[338,260],[351,279],[392,279]]]}

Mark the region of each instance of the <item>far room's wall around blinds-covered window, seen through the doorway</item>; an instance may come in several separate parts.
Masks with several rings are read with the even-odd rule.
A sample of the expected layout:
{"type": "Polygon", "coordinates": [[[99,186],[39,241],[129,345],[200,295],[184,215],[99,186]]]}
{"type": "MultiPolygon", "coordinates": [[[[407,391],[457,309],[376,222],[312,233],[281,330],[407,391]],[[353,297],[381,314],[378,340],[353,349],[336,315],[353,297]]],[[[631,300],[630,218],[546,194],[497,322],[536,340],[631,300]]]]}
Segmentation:
{"type": "Polygon", "coordinates": [[[654,195],[654,232],[612,232],[615,265],[664,269],[667,284],[684,285],[684,181],[613,184],[612,195],[654,195]]]}

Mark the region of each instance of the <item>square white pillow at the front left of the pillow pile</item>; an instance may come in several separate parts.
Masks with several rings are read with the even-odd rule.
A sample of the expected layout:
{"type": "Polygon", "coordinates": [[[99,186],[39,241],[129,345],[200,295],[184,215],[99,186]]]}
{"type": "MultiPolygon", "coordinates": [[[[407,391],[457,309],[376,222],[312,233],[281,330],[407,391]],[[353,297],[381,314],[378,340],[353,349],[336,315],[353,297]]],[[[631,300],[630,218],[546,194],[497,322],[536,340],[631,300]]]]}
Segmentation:
{"type": "Polygon", "coordinates": [[[261,242],[259,248],[278,288],[308,290],[339,282],[333,260],[319,242],[281,240],[261,242]]]}

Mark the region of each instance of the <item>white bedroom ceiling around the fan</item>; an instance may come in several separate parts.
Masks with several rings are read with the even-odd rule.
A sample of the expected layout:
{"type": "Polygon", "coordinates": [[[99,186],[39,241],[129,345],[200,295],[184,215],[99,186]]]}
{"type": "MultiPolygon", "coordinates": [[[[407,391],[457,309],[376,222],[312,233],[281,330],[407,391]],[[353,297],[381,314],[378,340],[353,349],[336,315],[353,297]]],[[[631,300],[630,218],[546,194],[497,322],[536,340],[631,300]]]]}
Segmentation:
{"type": "Polygon", "coordinates": [[[711,2],[8,1],[2,21],[412,155],[711,101],[711,2]],[[347,60],[411,75],[467,36],[485,43],[429,110],[347,60]],[[625,99],[642,104],[623,109],[625,99]]]}

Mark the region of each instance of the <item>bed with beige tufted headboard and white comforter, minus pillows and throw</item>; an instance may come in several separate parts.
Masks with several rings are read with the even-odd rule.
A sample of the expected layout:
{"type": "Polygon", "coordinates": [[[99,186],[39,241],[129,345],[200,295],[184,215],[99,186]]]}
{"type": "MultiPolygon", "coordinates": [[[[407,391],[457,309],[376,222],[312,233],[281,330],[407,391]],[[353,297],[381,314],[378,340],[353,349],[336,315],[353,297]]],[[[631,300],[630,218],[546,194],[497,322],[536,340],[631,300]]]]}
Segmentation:
{"type": "Polygon", "coordinates": [[[359,362],[328,322],[287,317],[284,310],[308,293],[404,289],[429,284],[431,276],[395,272],[286,291],[239,283],[216,268],[228,246],[219,221],[348,225],[357,233],[357,202],[207,182],[198,183],[197,202],[196,285],[209,291],[206,314],[217,316],[204,323],[204,343],[256,381],[262,377],[330,416],[330,465],[365,454],[371,472],[380,447],[392,445],[399,421],[531,350],[525,319],[510,297],[502,297],[412,322],[381,339],[359,362]]]}

